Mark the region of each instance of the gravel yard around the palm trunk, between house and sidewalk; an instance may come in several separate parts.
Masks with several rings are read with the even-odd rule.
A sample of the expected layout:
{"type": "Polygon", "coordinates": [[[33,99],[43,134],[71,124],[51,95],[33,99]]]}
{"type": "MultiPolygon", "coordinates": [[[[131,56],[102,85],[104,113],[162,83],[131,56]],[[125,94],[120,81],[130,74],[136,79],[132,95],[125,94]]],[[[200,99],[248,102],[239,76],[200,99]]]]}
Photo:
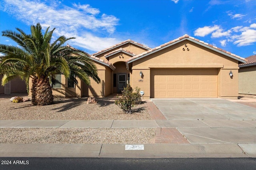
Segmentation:
{"type": "MultiPolygon", "coordinates": [[[[2,120],[150,120],[144,104],[125,114],[111,98],[98,99],[97,104],[86,104],[87,98],[54,99],[48,106],[33,106],[31,102],[12,103],[10,98],[21,94],[0,94],[2,120]]],[[[27,97],[25,94],[22,97],[27,97]]],[[[30,98],[31,99],[31,98],[30,98]]]]}

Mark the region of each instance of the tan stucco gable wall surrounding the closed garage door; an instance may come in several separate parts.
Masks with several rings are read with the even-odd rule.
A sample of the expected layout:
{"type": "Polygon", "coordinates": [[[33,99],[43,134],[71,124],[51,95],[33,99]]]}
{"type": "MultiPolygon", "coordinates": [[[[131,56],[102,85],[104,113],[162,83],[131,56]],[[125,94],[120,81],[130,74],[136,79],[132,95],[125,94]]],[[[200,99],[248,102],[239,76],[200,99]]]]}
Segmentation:
{"type": "Polygon", "coordinates": [[[238,61],[188,40],[132,63],[132,88],[145,89],[145,97],[150,96],[150,68],[218,68],[218,96],[238,96],[238,61]],[[189,50],[182,50],[184,44],[189,50]],[[138,82],[140,70],[144,74],[143,82],[138,82]],[[232,78],[230,70],[234,75],[232,78]]]}

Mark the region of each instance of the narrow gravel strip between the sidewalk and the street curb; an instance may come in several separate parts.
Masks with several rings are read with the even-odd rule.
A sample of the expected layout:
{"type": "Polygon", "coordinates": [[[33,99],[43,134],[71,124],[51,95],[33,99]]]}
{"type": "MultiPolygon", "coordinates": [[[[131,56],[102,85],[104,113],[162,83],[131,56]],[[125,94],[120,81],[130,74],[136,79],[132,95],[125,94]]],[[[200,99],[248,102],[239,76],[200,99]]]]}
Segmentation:
{"type": "Polygon", "coordinates": [[[154,143],[155,128],[1,128],[0,143],[154,143]]]}

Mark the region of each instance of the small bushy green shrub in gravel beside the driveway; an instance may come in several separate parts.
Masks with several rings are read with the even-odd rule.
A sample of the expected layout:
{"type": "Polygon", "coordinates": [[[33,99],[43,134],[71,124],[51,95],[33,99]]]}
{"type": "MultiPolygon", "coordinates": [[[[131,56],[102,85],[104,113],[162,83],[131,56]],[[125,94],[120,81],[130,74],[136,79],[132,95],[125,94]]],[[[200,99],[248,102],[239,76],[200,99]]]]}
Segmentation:
{"type": "Polygon", "coordinates": [[[122,91],[122,96],[117,96],[118,99],[115,101],[115,104],[120,107],[125,113],[131,114],[132,107],[136,106],[136,103],[141,101],[140,88],[136,87],[136,92],[133,92],[130,84],[122,91]]]}

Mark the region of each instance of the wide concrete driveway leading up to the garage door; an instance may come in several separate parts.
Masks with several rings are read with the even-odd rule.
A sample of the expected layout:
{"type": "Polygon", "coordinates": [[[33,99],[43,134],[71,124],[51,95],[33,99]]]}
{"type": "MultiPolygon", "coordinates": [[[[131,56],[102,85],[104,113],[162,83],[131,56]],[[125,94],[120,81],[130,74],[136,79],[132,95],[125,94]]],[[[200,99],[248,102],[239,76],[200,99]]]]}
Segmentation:
{"type": "Polygon", "coordinates": [[[254,107],[220,98],[151,100],[167,118],[158,125],[176,127],[190,143],[256,143],[254,107]]]}

